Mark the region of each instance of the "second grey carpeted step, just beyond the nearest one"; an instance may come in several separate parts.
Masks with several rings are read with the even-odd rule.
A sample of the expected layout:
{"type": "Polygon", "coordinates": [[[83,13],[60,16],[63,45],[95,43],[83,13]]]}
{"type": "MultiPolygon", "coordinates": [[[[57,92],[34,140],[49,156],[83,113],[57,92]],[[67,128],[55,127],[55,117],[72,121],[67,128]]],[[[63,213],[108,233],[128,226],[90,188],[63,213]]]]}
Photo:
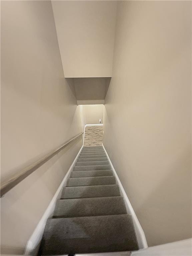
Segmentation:
{"type": "Polygon", "coordinates": [[[61,199],[55,206],[54,218],[126,214],[122,196],[61,199]]]}

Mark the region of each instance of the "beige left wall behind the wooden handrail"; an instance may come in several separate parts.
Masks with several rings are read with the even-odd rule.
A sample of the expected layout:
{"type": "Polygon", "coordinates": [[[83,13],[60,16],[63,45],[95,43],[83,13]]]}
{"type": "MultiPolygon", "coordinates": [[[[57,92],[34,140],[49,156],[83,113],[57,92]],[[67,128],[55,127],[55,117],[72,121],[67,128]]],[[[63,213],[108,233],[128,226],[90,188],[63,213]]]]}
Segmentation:
{"type": "MultiPolygon", "coordinates": [[[[1,1],[1,181],[82,131],[50,1],[1,1]]],[[[1,253],[22,254],[82,145],[68,146],[1,198],[1,253]]]]}

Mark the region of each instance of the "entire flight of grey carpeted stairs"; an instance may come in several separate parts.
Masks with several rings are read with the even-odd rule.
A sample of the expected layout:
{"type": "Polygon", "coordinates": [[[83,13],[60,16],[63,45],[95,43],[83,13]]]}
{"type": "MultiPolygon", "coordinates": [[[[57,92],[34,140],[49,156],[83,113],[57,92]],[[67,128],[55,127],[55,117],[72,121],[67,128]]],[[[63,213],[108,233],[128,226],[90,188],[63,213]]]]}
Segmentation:
{"type": "Polygon", "coordinates": [[[103,147],[83,147],[48,219],[39,255],[138,250],[131,215],[103,147]]]}

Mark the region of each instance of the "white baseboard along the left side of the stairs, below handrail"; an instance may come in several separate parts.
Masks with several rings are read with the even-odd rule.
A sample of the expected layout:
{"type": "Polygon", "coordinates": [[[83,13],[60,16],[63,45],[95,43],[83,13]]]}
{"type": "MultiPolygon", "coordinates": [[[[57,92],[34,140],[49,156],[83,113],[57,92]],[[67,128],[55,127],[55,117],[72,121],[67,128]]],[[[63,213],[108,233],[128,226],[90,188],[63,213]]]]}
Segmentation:
{"type": "Polygon", "coordinates": [[[56,201],[61,198],[62,189],[66,185],[66,181],[69,177],[69,174],[71,173],[71,171],[73,169],[73,166],[75,165],[75,162],[76,162],[77,158],[79,157],[79,154],[80,154],[82,148],[83,148],[83,145],[80,148],[80,150],[79,150],[77,156],[75,157],[73,163],[69,167],[69,170],[65,174],[65,177],[63,178],[63,180],[62,180],[60,186],[58,187],[57,191],[55,192],[51,202],[49,203],[47,209],[45,210],[43,216],[41,217],[39,223],[37,224],[33,234],[29,238],[29,240],[27,242],[27,245],[25,247],[24,255],[36,255],[36,253],[38,252],[39,245],[40,245],[40,242],[41,242],[41,239],[42,239],[42,236],[43,236],[43,232],[44,232],[44,228],[45,228],[45,224],[47,222],[47,219],[51,218],[53,216],[56,201]]]}

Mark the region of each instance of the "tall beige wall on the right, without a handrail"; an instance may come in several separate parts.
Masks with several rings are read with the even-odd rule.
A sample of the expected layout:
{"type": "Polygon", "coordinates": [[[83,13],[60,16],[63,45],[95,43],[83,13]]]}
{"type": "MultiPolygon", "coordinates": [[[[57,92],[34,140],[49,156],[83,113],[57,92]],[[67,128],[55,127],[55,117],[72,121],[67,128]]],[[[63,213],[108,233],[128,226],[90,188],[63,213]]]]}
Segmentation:
{"type": "Polygon", "coordinates": [[[119,1],[104,146],[149,246],[191,236],[191,2],[119,1]]]}

